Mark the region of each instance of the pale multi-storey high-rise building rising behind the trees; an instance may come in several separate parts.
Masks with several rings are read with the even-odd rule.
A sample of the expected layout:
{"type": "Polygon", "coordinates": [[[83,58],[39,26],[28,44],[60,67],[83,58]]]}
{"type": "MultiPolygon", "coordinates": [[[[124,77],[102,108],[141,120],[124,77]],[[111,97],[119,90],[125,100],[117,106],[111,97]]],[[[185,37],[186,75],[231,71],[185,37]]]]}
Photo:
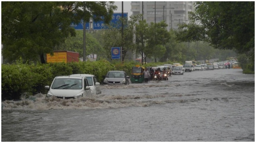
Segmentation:
{"type": "Polygon", "coordinates": [[[131,2],[131,11],[133,15],[142,14],[142,3],[143,7],[143,19],[147,21],[148,24],[151,22],[165,21],[168,24],[167,30],[178,29],[178,24],[189,23],[188,12],[192,12],[193,2],[131,2]]]}

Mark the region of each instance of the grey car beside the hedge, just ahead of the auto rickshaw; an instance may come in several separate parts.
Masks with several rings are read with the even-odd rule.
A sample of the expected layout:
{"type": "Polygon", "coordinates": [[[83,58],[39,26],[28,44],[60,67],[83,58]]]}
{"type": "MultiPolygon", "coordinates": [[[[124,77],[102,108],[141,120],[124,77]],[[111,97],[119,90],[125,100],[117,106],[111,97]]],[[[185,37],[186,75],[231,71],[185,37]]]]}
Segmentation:
{"type": "Polygon", "coordinates": [[[128,85],[129,76],[123,71],[109,71],[104,77],[103,84],[126,84],[128,85]]]}

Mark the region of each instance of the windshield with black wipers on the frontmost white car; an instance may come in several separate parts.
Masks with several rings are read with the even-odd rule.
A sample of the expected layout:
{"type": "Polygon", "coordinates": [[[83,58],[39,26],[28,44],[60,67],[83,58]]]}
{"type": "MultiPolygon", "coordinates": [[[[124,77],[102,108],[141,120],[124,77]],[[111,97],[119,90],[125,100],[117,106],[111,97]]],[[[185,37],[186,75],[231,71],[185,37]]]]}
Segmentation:
{"type": "Polygon", "coordinates": [[[55,79],[52,89],[82,89],[81,79],[55,79]]]}

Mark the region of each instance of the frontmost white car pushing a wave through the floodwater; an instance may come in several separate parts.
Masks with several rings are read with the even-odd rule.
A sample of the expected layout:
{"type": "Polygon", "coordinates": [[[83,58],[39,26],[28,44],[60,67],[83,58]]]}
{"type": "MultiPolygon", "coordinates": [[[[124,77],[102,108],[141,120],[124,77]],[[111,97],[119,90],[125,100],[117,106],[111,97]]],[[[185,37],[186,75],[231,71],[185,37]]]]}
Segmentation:
{"type": "Polygon", "coordinates": [[[53,79],[46,97],[57,97],[63,99],[78,98],[91,95],[91,89],[86,77],[57,76],[53,79]]]}

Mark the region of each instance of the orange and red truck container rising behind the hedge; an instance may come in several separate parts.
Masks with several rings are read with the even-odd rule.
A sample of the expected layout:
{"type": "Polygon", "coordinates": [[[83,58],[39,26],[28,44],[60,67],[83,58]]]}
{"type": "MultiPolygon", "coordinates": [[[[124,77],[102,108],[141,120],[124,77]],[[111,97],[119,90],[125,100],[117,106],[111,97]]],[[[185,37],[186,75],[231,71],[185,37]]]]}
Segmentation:
{"type": "Polygon", "coordinates": [[[79,61],[79,53],[72,51],[55,51],[53,52],[53,56],[50,54],[46,54],[47,62],[78,62],[79,61]]]}

